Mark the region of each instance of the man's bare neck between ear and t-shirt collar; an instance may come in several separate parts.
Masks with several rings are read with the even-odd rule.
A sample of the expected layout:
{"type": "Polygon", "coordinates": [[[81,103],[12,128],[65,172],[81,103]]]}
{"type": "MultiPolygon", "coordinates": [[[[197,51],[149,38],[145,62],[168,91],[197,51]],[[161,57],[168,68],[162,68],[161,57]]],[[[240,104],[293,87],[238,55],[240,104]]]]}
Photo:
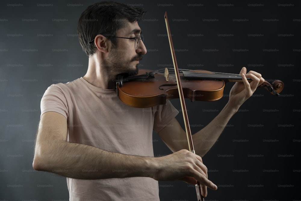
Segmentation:
{"type": "Polygon", "coordinates": [[[89,57],[88,70],[83,77],[88,83],[101,89],[114,89],[116,75],[106,68],[103,60],[96,53],[89,57]]]}

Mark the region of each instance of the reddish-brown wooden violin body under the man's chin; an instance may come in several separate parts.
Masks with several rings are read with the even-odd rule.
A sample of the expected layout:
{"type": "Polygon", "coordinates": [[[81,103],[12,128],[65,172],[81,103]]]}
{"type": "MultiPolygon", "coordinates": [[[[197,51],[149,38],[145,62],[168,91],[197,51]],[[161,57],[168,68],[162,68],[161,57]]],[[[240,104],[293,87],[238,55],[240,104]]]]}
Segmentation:
{"type": "MultiPolygon", "coordinates": [[[[150,71],[139,69],[138,75],[150,71]]],[[[210,71],[206,72],[211,73],[210,71]]],[[[181,73],[180,79],[184,98],[189,98],[191,101],[216,101],[223,97],[225,82],[222,80],[187,79],[181,73]]],[[[170,99],[179,98],[174,75],[169,75],[169,79],[166,81],[164,75],[154,74],[152,79],[124,82],[122,87],[117,85],[116,90],[122,102],[137,108],[166,104],[166,101],[170,99]]]]}

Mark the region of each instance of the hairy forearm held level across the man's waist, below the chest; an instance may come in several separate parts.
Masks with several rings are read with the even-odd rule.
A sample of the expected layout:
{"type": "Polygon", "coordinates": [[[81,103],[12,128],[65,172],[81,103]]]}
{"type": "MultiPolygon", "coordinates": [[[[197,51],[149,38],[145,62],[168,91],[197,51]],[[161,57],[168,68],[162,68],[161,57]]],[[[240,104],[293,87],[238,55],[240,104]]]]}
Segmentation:
{"type": "Polygon", "coordinates": [[[76,179],[149,177],[152,158],[108,152],[93,146],[58,141],[53,149],[36,147],[33,167],[76,179]]]}

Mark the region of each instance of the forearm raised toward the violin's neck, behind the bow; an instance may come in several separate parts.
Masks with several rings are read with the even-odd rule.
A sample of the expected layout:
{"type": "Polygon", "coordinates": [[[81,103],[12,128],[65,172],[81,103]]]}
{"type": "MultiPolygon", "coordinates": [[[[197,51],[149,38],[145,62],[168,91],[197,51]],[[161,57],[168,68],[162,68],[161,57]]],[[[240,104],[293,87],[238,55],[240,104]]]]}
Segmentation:
{"type": "Polygon", "coordinates": [[[231,107],[229,103],[227,103],[219,115],[217,115],[206,127],[192,136],[194,149],[197,155],[203,157],[209,149],[211,149],[236,111],[237,109],[231,107]]]}

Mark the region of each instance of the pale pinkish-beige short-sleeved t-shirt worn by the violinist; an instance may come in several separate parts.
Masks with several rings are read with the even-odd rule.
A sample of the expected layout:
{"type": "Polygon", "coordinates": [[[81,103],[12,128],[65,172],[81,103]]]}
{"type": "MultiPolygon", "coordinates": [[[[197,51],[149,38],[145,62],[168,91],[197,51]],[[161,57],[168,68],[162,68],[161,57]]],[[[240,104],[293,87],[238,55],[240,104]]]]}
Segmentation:
{"type": "MultiPolygon", "coordinates": [[[[169,101],[151,108],[130,107],[119,100],[115,90],[95,87],[82,77],[49,86],[41,100],[41,116],[48,111],[67,118],[71,143],[149,157],[154,156],[153,130],[160,131],[178,114],[169,101]]],[[[67,178],[67,185],[70,201],[159,200],[158,182],[149,177],[67,178]]]]}

